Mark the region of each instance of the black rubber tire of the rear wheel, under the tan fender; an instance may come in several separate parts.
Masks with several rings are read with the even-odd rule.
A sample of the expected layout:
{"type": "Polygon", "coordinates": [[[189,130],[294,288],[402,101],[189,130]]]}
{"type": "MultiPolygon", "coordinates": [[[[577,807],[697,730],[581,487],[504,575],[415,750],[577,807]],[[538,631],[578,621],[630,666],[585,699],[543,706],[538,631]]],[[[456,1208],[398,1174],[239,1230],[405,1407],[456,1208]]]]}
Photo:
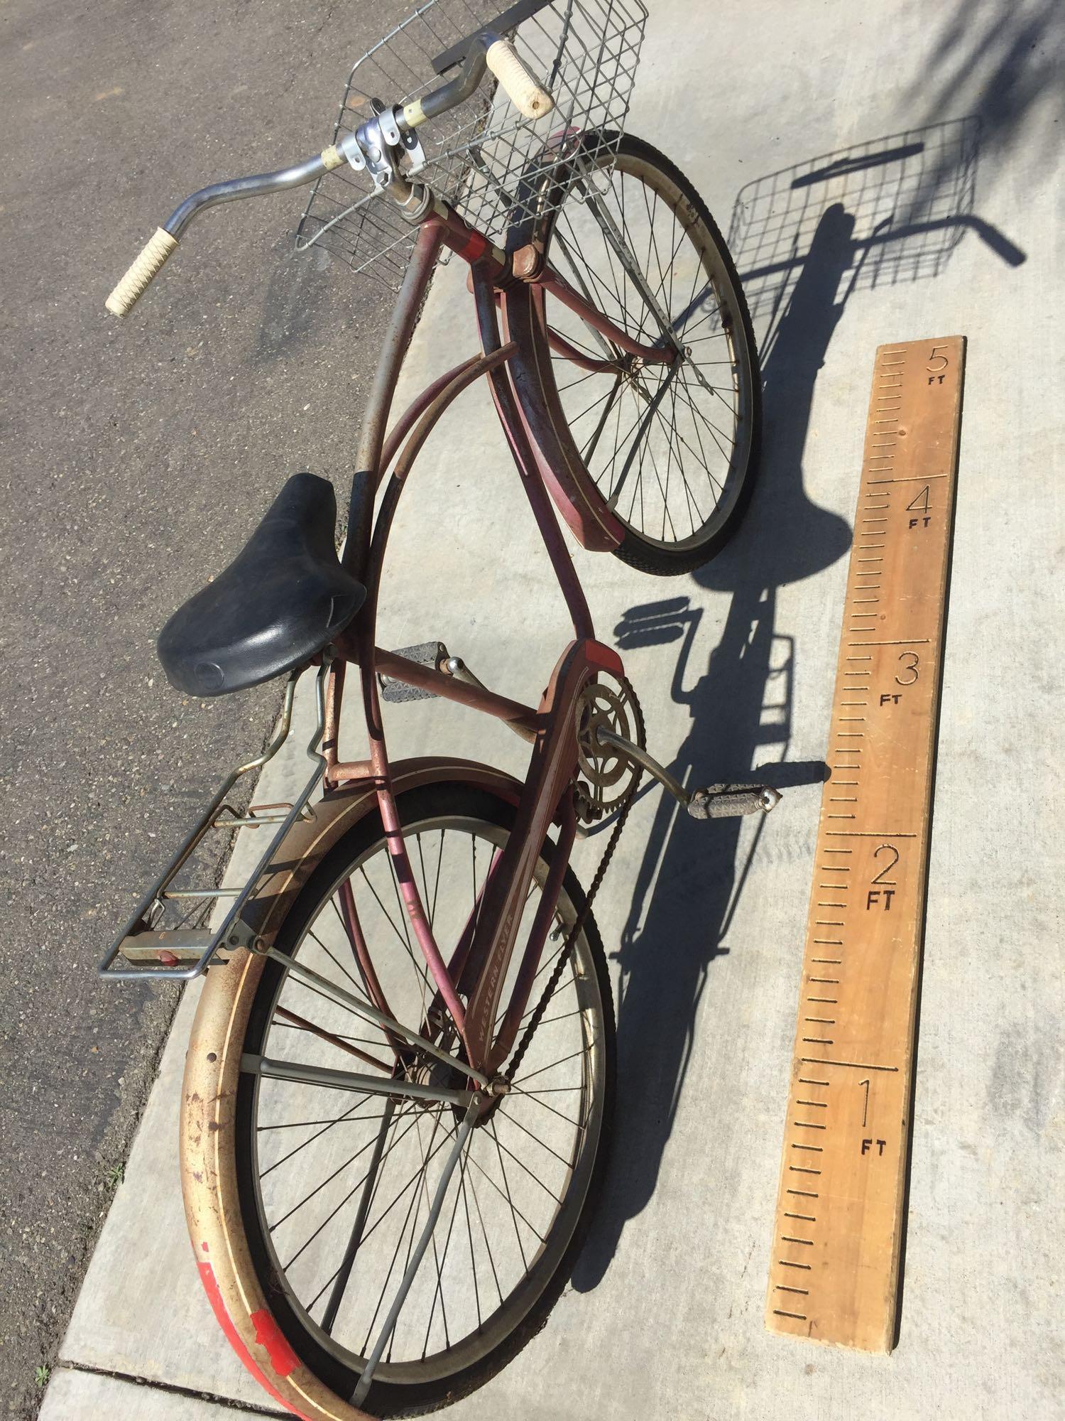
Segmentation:
{"type": "MultiPolygon", "coordinates": [[[[513,806],[498,796],[481,787],[456,783],[432,784],[410,790],[408,794],[400,796],[399,807],[403,824],[412,826],[412,833],[419,824],[452,818],[454,821],[479,821],[506,836],[514,818],[513,806]]],[[[376,848],[382,844],[383,830],[376,813],[368,814],[339,840],[293,901],[280,925],[275,942],[283,952],[291,953],[293,951],[298,951],[300,944],[305,941],[308,925],[317,922],[317,908],[331,895],[337,881],[349,874],[352,864],[365,863],[372,858],[376,848]]],[[[541,858],[541,872],[550,864],[550,854],[551,850],[547,845],[547,851],[541,858]]],[[[584,907],[584,894],[571,870],[567,870],[565,874],[562,899],[567,919],[584,907]]],[[[545,961],[548,956],[550,953],[545,953],[545,961]]],[[[584,929],[578,938],[578,959],[581,971],[591,971],[589,985],[592,996],[599,1003],[599,1022],[602,1026],[599,1036],[599,1047],[602,1050],[602,1098],[598,1111],[596,1138],[592,1141],[592,1155],[582,1172],[584,1194],[571,1221],[567,1223],[567,1238],[554,1249],[550,1270],[545,1270],[545,1276],[537,1279],[535,1296],[530,1306],[520,1317],[515,1316],[514,1326],[490,1350],[470,1366],[464,1366],[453,1374],[444,1374],[422,1383],[390,1380],[388,1368],[382,1367],[382,1374],[375,1377],[368,1395],[359,1403],[371,1408],[373,1415],[420,1415],[483,1385],[545,1324],[551,1307],[557,1302],[572,1270],[602,1187],[615,1093],[613,1002],[602,942],[591,914],[585,918],[584,929]]],[[[264,1030],[273,1010],[271,1003],[275,1003],[281,976],[278,965],[267,962],[254,986],[254,999],[247,1016],[241,1052],[257,1053],[261,1050],[264,1030]]],[[[266,1238],[261,1199],[256,1191],[253,1178],[256,1171],[253,1137],[256,1124],[256,1077],[241,1076],[236,1101],[236,1128],[231,1137],[236,1169],[223,1169],[220,1172],[222,1181],[227,1178],[234,1181],[237,1198],[223,1199],[222,1206],[230,1216],[236,1211],[241,1219],[247,1242],[247,1259],[254,1269],[257,1287],[270,1302],[273,1322],[280,1329],[281,1336],[293,1349],[295,1357],[337,1397],[345,1400],[352,1395],[359,1380],[359,1371],[356,1367],[345,1366],[341,1357],[322,1346],[322,1337],[314,1324],[308,1327],[300,1307],[293,1304],[284,1279],[278,1277],[277,1263],[266,1238]]],[[[243,1250],[236,1252],[241,1253],[243,1250]]],[[[392,1370],[395,1371],[395,1368],[392,1370]]]]}

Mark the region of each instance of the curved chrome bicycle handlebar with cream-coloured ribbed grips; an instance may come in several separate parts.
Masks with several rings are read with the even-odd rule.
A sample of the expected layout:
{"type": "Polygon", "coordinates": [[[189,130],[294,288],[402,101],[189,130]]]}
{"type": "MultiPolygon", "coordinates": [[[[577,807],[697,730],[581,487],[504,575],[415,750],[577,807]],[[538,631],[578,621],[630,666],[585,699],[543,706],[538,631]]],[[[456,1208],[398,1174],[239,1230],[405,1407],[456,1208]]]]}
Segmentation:
{"type": "MultiPolygon", "coordinates": [[[[486,68],[491,70],[507,98],[525,118],[542,118],[555,107],[551,94],[537,82],[510,40],[501,38],[491,30],[483,30],[471,38],[463,72],[457,78],[433,94],[427,94],[423,99],[405,105],[402,112],[400,109],[395,111],[400,125],[413,131],[427,119],[456,108],[473,94],[483,80],[486,68]]],[[[308,158],[307,162],[297,163],[294,168],[281,168],[277,172],[260,173],[253,178],[233,178],[229,182],[212,183],[209,188],[195,192],[175,209],[162,227],[156,227],[145,247],[133,259],[129,270],[105,301],[108,311],[114,315],[128,315],[132,311],[178,247],[182,232],[204,207],[241,198],[258,198],[263,193],[281,192],[287,188],[300,188],[331,169],[339,168],[349,158],[354,166],[362,166],[358,139],[352,134],[327,148],[317,158],[308,158]]]]}

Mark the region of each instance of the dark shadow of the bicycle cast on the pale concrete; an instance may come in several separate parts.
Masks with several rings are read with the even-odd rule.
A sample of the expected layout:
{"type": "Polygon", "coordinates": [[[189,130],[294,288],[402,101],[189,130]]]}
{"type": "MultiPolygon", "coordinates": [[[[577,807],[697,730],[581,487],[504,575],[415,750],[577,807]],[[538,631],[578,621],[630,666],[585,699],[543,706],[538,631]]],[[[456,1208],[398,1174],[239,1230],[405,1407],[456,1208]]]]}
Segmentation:
{"type": "MultiPolygon", "coordinates": [[[[801,165],[787,183],[780,173],[761,180],[775,193],[764,203],[758,183],[737,200],[746,223],[738,233],[737,219],[733,223],[737,264],[761,324],[768,323],[761,341],[765,442],[741,530],[694,574],[700,587],[730,594],[724,630],[700,672],[703,612],[687,597],[629,608],[615,628],[622,649],[680,644],[672,696],[687,706],[692,723],[670,769],[689,786],[743,779],[767,759],[787,760],[797,647],[777,625],[778,593],[831,567],[851,546],[846,520],[814,504],[804,490],[802,458],[818,372],[859,284],[933,276],[967,227],[980,230],[970,210],[977,134],[963,121],[951,136],[964,142],[944,155],[946,126],[927,131],[936,141],[932,163],[924,161],[929,145],[920,131],[896,135],[801,165]],[[914,155],[922,155],[920,180],[907,176],[888,188],[885,171],[914,155]],[[879,196],[888,192],[886,213],[868,200],[870,173],[879,196]],[[824,185],[819,205],[814,199],[818,183],[824,185]],[[781,209],[792,193],[799,200],[788,215],[781,209]],[[956,210],[944,210],[949,202],[956,210]],[[892,229],[895,236],[886,236],[892,229]],[[770,252],[765,239],[771,239],[770,252]],[[892,240],[899,243],[893,250],[892,240]]],[[[990,246],[1000,257],[1011,264],[1024,260],[1007,239],[994,236],[990,246]]],[[[778,763],[761,769],[758,779],[782,787],[825,774],[821,763],[778,763]]],[[[628,1221],[643,1211],[656,1188],[709,969],[730,951],[727,935],[761,824],[751,836],[741,820],[699,823],[665,794],[657,804],[618,952],[618,1098],[623,1108],[615,1127],[615,1167],[572,1275],[578,1292],[599,1283],[628,1221]]]]}

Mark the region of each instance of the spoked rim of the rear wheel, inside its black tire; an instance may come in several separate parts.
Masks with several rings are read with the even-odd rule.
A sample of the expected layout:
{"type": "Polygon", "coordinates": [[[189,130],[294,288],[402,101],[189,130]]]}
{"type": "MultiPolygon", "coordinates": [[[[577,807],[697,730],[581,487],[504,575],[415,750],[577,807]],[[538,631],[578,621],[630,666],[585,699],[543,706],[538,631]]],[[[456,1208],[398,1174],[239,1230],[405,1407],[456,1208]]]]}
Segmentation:
{"type": "MultiPolygon", "coordinates": [[[[405,833],[447,955],[507,833],[490,821],[454,816],[423,820],[405,833]]],[[[531,922],[545,871],[541,861],[524,925],[531,922]]],[[[346,990],[358,985],[358,995],[364,995],[338,908],[345,881],[352,884],[373,966],[396,1019],[420,1030],[419,1013],[432,989],[412,946],[413,934],[406,941],[381,841],[345,868],[322,897],[300,932],[294,955],[346,990]]],[[[572,904],[562,895],[557,925],[572,921],[572,904]]],[[[548,942],[530,1010],[561,941],[548,942]]],[[[508,982],[515,968],[511,963],[508,982]]],[[[317,998],[291,976],[278,971],[268,995],[267,1025],[254,1050],[274,1059],[364,1069],[334,1043],[280,1017],[278,1007],[284,1007],[376,1059],[388,1056],[381,1029],[317,998]]],[[[504,1005],[507,999],[504,989],[504,1005]]],[[[520,1326],[554,1277],[577,1226],[602,1127],[604,1083],[602,1002],[591,949],[581,935],[513,1093],[469,1137],[375,1384],[452,1377],[481,1361],[520,1326]]],[[[298,1323],[352,1373],[362,1371],[379,1334],[457,1128],[450,1106],[403,1101],[385,1124],[388,1110],[382,1096],[253,1079],[247,1144],[270,1272],[298,1323]],[[378,1151],[379,1168],[368,1187],[364,1177],[378,1151]],[[355,1262],[337,1303],[338,1265],[366,1201],[355,1262]]]]}

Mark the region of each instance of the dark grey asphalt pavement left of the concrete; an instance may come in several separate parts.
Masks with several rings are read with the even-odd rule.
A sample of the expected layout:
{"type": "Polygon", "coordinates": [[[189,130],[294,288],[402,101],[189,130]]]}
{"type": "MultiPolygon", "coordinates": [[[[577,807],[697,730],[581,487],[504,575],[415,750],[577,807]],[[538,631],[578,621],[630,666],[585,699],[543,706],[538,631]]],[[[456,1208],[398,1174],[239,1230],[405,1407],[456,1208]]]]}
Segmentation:
{"type": "MultiPolygon", "coordinates": [[[[162,622],[284,479],[344,487],[388,293],[297,257],[302,193],[230,205],[125,323],[104,298],[219,178],[328,139],[395,4],[0,11],[0,1411],[31,1417],[155,1076],[176,992],[95,965],[277,688],[173,692],[162,622]]],[[[341,499],[342,502],[342,499],[341,499]]]]}

